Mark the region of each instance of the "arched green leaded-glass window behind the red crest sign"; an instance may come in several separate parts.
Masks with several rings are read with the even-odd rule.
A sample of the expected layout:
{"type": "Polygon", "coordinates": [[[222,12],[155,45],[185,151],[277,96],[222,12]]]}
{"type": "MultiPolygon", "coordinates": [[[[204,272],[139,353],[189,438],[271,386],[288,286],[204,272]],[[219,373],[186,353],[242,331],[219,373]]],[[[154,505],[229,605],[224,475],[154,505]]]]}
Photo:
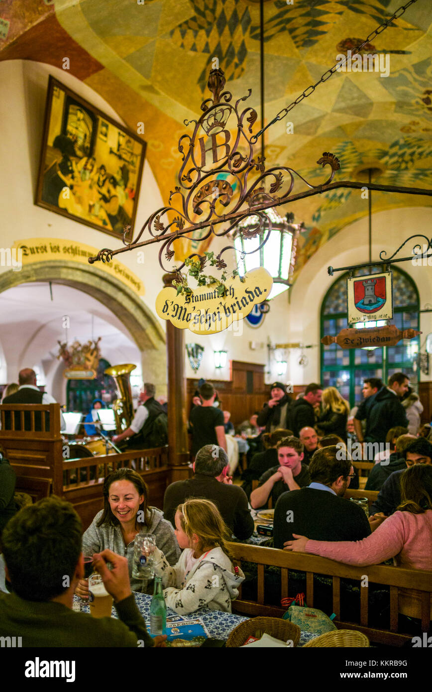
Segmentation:
{"type": "MultiPolygon", "coordinates": [[[[356,276],[381,272],[374,266],[358,269],[356,276]]],[[[419,298],[417,288],[404,271],[393,271],[393,320],[390,324],[399,329],[419,328],[419,298]]],[[[342,275],[327,291],[321,307],[321,336],[336,336],[348,327],[347,287],[348,273],[342,275]]],[[[369,326],[374,327],[375,322],[369,326]]],[[[385,324],[385,322],[384,322],[385,324]]],[[[377,326],[380,326],[379,323],[377,326]]],[[[363,326],[363,325],[361,325],[363,326]]],[[[367,328],[367,327],[366,327],[367,328]]],[[[324,387],[336,387],[350,406],[362,399],[361,388],[365,377],[380,377],[387,381],[393,372],[406,372],[412,383],[417,383],[418,374],[413,371],[413,356],[418,352],[419,338],[399,341],[396,346],[376,349],[341,349],[337,344],[321,344],[321,382],[324,387]]]]}

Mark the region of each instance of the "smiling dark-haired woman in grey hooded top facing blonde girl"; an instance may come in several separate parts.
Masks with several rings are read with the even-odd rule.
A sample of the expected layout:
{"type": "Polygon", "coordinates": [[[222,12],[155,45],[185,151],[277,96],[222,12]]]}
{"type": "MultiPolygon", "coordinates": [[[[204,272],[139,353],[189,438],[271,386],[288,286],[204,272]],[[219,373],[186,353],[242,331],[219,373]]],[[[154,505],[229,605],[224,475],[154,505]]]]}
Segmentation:
{"type": "MultiPolygon", "coordinates": [[[[82,536],[84,554],[92,555],[109,548],[127,557],[129,579],[134,591],[151,591],[146,579],[132,576],[134,538],[136,534],[153,534],[156,546],[174,565],[180,550],[174,529],[163,519],[163,513],[148,505],[148,489],[141,476],[132,468],[119,468],[110,473],[104,482],[104,509],[96,514],[82,536]]],[[[87,581],[80,581],[76,593],[88,597],[87,581]]]]}

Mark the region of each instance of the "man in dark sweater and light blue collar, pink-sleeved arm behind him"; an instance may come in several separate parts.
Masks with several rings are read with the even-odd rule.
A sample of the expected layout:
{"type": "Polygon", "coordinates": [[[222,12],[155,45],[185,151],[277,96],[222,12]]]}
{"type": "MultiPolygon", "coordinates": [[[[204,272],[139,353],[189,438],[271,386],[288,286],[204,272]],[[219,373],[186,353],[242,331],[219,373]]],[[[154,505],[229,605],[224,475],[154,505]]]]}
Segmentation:
{"type": "Polygon", "coordinates": [[[363,509],[342,497],[350,484],[350,459],[338,459],[337,448],[325,447],[309,464],[307,488],[283,493],[276,502],[273,543],[283,548],[292,534],[314,540],[361,540],[370,534],[363,509]]]}

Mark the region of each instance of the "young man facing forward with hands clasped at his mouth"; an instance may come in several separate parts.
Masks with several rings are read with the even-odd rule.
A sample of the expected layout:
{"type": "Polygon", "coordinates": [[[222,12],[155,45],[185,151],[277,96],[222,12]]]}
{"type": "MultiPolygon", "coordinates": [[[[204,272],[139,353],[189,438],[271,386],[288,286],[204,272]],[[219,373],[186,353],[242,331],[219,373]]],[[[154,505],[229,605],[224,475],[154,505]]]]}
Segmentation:
{"type": "Polygon", "coordinates": [[[298,437],[284,437],[276,445],[278,450],[279,466],[269,468],[260,477],[260,484],[251,493],[251,505],[253,509],[266,507],[269,497],[273,501],[273,507],[279,496],[287,490],[298,490],[309,485],[310,477],[306,464],[303,461],[303,444],[298,437]]]}

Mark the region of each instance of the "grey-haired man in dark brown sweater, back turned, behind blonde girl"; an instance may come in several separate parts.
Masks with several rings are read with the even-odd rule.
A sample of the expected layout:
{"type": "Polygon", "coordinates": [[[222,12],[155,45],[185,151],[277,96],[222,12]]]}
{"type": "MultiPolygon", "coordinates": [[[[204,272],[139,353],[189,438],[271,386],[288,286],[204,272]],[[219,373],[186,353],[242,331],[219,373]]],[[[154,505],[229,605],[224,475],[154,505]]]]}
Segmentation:
{"type": "Polygon", "coordinates": [[[228,455],[217,445],[207,444],[195,457],[195,476],[168,486],[163,498],[163,516],[174,524],[179,504],[188,498],[206,498],[215,503],[226,525],[239,540],[253,534],[253,518],[246,493],[227,475],[228,455]]]}

